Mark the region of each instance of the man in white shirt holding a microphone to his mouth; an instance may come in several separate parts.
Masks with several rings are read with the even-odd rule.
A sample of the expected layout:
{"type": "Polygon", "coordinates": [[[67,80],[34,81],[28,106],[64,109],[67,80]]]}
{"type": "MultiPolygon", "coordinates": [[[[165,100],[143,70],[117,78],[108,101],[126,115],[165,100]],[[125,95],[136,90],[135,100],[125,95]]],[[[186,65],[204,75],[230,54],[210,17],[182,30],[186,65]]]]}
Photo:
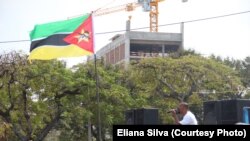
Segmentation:
{"type": "Polygon", "coordinates": [[[171,110],[172,116],[175,119],[175,123],[178,125],[197,125],[197,119],[195,115],[189,110],[188,104],[181,102],[179,104],[178,110],[171,110]],[[177,114],[180,113],[183,119],[180,121],[177,114]]]}

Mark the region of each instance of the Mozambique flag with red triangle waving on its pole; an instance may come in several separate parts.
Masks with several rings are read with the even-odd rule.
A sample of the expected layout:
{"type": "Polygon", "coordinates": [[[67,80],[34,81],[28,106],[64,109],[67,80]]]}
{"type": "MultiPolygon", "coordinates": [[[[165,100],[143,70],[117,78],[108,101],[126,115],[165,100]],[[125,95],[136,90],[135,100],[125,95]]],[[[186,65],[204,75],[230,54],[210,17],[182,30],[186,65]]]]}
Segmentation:
{"type": "Polygon", "coordinates": [[[36,25],[30,33],[29,60],[50,60],[94,52],[92,16],[36,25]]]}

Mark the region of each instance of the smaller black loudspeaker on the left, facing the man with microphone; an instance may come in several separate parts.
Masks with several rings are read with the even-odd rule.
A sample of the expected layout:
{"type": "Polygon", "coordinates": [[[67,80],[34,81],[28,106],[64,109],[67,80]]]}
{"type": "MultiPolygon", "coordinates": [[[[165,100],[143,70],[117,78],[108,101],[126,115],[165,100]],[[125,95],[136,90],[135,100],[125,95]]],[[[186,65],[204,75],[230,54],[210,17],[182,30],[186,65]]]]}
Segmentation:
{"type": "Polygon", "coordinates": [[[156,108],[140,108],[125,111],[127,125],[159,124],[159,113],[156,108]]]}

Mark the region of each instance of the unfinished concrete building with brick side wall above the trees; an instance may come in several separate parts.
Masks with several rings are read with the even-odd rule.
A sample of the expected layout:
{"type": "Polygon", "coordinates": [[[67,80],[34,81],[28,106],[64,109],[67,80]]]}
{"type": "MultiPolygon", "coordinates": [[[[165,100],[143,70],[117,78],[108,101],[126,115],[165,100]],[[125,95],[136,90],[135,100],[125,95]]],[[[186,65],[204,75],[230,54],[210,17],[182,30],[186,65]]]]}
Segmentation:
{"type": "MultiPolygon", "coordinates": [[[[105,64],[127,64],[147,57],[165,57],[182,49],[180,33],[127,31],[96,52],[105,64]]],[[[89,57],[88,60],[92,60],[89,57]]]]}

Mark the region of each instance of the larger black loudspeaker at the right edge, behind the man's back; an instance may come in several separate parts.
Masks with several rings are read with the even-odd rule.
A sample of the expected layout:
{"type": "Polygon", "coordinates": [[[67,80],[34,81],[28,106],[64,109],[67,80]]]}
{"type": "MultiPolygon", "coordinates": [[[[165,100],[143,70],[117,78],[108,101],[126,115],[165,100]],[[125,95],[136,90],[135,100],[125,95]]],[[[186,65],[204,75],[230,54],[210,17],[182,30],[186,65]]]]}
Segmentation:
{"type": "Polygon", "coordinates": [[[243,121],[243,107],[250,100],[235,99],[204,102],[204,124],[236,124],[243,121]]]}

